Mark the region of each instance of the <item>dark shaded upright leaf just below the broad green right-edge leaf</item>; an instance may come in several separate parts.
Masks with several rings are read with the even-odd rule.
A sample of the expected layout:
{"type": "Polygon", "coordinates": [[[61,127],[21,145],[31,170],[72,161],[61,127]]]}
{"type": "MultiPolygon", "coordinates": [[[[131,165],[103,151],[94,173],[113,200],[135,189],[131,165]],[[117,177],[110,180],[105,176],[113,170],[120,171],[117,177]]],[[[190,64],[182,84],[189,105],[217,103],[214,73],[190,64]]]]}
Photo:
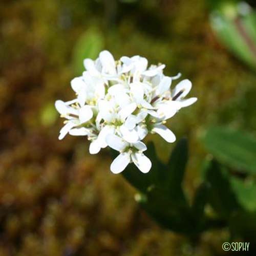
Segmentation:
{"type": "Polygon", "coordinates": [[[220,164],[211,160],[205,170],[206,181],[209,183],[209,201],[216,213],[222,218],[228,219],[233,211],[239,209],[227,173],[220,164]]]}

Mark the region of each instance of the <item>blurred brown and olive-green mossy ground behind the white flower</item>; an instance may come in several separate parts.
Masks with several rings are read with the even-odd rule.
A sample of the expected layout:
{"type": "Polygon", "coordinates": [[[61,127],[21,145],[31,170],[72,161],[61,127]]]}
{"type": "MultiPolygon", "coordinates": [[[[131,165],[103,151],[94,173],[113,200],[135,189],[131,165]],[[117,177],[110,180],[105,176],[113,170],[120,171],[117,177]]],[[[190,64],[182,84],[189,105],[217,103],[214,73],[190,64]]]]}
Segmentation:
{"type": "MultiPolygon", "coordinates": [[[[1,256],[227,255],[227,229],[204,232],[191,245],[155,224],[135,202],[135,189],[110,172],[107,150],[91,156],[85,138],[57,139],[63,120],[54,109],[56,99],[74,97],[70,80],[83,71],[83,58],[103,49],[116,59],[138,54],[165,63],[169,76],[181,72],[198,102],[168,126],[189,139],[183,186],[193,197],[207,155],[199,138],[208,125],[256,135],[256,39],[240,27],[249,52],[228,45],[239,39],[219,33],[218,15],[232,19],[237,9],[230,1],[218,9],[217,2],[1,1],[1,256]]],[[[147,140],[166,161],[174,145],[157,135],[147,140]]]]}

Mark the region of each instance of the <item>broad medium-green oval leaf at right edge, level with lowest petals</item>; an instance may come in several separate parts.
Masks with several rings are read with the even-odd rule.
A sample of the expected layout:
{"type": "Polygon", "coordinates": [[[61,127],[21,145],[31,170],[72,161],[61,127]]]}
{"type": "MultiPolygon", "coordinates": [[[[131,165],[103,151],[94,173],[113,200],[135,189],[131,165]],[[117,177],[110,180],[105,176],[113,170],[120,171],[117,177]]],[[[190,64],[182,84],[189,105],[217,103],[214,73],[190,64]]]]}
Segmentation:
{"type": "Polygon", "coordinates": [[[210,127],[202,138],[207,150],[220,162],[256,173],[256,139],[227,127],[210,127]]]}

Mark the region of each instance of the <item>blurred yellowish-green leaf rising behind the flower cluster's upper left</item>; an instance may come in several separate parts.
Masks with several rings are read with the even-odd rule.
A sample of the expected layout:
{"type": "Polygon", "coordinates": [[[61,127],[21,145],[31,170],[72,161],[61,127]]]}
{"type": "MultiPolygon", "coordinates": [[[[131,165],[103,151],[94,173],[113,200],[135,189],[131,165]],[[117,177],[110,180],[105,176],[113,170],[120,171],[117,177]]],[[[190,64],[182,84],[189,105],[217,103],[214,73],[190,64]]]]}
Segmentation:
{"type": "Polygon", "coordinates": [[[103,36],[97,30],[91,29],[84,32],[77,40],[73,49],[73,68],[76,75],[84,71],[83,60],[85,58],[96,59],[103,50],[103,36]]]}

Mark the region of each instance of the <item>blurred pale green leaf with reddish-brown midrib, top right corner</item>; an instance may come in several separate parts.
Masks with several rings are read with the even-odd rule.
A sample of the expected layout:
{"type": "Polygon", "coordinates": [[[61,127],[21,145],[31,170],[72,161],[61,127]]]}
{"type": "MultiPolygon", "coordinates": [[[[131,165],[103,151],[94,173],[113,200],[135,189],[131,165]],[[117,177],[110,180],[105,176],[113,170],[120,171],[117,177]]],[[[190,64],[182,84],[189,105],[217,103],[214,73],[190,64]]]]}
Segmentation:
{"type": "Polygon", "coordinates": [[[215,6],[210,23],[221,43],[256,69],[255,12],[245,3],[223,1],[215,6]]]}

